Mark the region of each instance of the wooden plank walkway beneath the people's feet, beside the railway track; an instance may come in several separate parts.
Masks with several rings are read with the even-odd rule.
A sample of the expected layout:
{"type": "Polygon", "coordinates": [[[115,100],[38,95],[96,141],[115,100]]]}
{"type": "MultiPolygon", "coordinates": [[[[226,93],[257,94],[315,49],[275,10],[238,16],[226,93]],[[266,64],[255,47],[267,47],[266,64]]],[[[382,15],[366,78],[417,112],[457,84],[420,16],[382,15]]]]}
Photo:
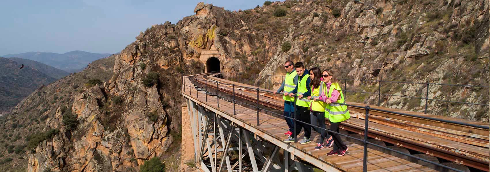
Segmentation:
{"type": "MultiPolygon", "coordinates": [[[[190,83],[188,78],[186,83],[190,83]]],[[[233,121],[237,125],[259,135],[267,141],[287,150],[295,156],[310,162],[316,167],[324,171],[344,171],[344,172],[362,172],[363,170],[363,149],[364,147],[355,143],[345,142],[348,144],[349,150],[343,156],[327,156],[332,148],[326,148],[320,151],[314,151],[316,146],[315,141],[319,138],[319,134],[313,132],[312,142],[305,145],[299,143],[288,144],[283,142],[285,139],[283,133],[286,132],[287,124],[282,118],[259,113],[259,123],[257,126],[257,112],[243,106],[235,105],[236,115],[233,115],[233,103],[220,100],[218,108],[217,98],[208,96],[206,102],[205,94],[198,92],[192,87],[186,87],[182,91],[182,95],[186,98],[195,101],[201,106],[204,106],[210,111],[233,121]],[[192,94],[192,95],[191,95],[192,94]]],[[[299,138],[302,138],[300,135],[299,138]]],[[[430,168],[412,163],[410,161],[400,159],[390,154],[382,153],[368,148],[368,171],[372,172],[436,172],[430,168]]]]}

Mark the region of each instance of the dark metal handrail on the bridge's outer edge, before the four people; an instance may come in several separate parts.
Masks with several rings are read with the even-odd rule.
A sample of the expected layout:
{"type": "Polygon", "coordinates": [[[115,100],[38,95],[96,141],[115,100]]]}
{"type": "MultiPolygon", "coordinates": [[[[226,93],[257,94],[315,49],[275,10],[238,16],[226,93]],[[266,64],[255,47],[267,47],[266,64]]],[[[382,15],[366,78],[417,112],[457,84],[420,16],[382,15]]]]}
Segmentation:
{"type": "MultiPolygon", "coordinates": [[[[187,77],[187,76],[185,76],[185,77],[187,77]]],[[[188,77],[188,78],[189,78],[189,77],[188,77]]],[[[202,80],[202,79],[197,79],[197,78],[194,78],[194,79],[196,80],[196,82],[197,82],[197,80],[202,80]]],[[[205,81],[206,81],[206,80],[205,80],[205,81]]],[[[189,78],[189,82],[191,82],[191,79],[190,79],[190,78],[189,78]]],[[[219,81],[214,81],[214,82],[216,82],[217,84],[221,83],[221,84],[225,84],[225,85],[230,85],[230,84],[228,84],[228,83],[222,83],[222,82],[219,82],[219,81]]],[[[184,84],[184,85],[185,85],[185,83],[184,83],[184,82],[183,82],[182,84],[184,84]]],[[[232,85],[233,85],[233,86],[235,86],[235,84],[232,84],[232,85]]],[[[197,85],[197,83],[196,83],[196,85],[195,85],[195,86],[196,86],[196,90],[197,90],[197,87],[199,87],[199,86],[197,85]]],[[[191,86],[190,86],[190,83],[189,83],[189,87],[191,87],[191,86]]],[[[241,86],[241,87],[242,87],[242,86],[241,86]]],[[[185,88],[185,86],[184,86],[183,88],[185,88]]],[[[243,87],[243,88],[250,88],[250,87],[243,87]]],[[[261,90],[261,89],[259,89],[259,88],[250,88],[250,89],[255,89],[255,90],[257,90],[257,106],[256,106],[256,108],[257,108],[257,125],[260,125],[260,124],[259,124],[259,115],[258,115],[258,113],[259,113],[259,109],[261,109],[261,110],[263,110],[263,109],[262,109],[262,108],[259,108],[258,101],[259,101],[259,90],[261,90]]],[[[218,93],[220,92],[220,91],[219,91],[218,86],[216,87],[216,91],[217,91],[216,96],[218,97],[218,99],[219,99],[219,97],[222,97],[222,98],[225,98],[225,99],[230,99],[230,98],[226,98],[226,97],[220,96],[220,95],[218,94],[218,93]]],[[[261,90],[261,91],[264,91],[264,92],[270,92],[270,91],[268,91],[268,90],[261,90]]],[[[191,90],[189,90],[189,92],[191,92],[191,90]]],[[[207,91],[206,91],[206,92],[207,92],[207,91]]],[[[233,92],[235,92],[235,87],[233,87],[233,92]]],[[[207,95],[207,94],[206,94],[206,95],[207,95]]],[[[296,96],[296,95],[294,95],[294,97],[296,98],[297,96],[296,96]]],[[[310,98],[310,99],[312,100],[312,98],[310,98]]],[[[235,102],[235,95],[233,95],[233,101],[235,102]]],[[[317,100],[317,101],[321,101],[321,100],[317,100]]],[[[312,127],[317,127],[317,128],[320,128],[320,129],[325,130],[325,131],[327,131],[327,132],[331,132],[331,133],[339,134],[339,135],[342,135],[342,136],[345,136],[345,137],[348,137],[348,138],[351,138],[351,139],[354,139],[354,140],[357,140],[357,141],[361,141],[361,142],[363,142],[363,143],[364,143],[364,154],[363,154],[363,155],[364,155],[364,158],[363,158],[363,172],[367,172],[367,161],[368,161],[368,160],[367,160],[367,155],[368,155],[367,150],[368,150],[368,144],[369,144],[369,145],[376,146],[376,147],[379,147],[379,148],[383,148],[383,149],[386,149],[386,150],[389,150],[389,151],[392,151],[392,152],[395,152],[395,153],[400,153],[400,154],[405,155],[405,156],[408,156],[408,157],[416,158],[417,160],[421,160],[421,161],[424,161],[424,162],[427,162],[427,163],[430,163],[430,164],[433,164],[433,165],[437,165],[437,166],[440,166],[440,167],[445,168],[445,169],[453,170],[453,171],[456,171],[456,172],[464,172],[464,171],[461,171],[461,170],[458,170],[458,169],[455,169],[455,168],[452,168],[452,167],[448,167],[448,166],[442,165],[442,164],[440,164],[440,163],[436,163],[436,162],[432,162],[432,161],[429,161],[429,160],[426,160],[426,159],[423,159],[423,158],[419,158],[419,157],[417,157],[417,156],[414,156],[414,155],[411,155],[411,154],[408,154],[408,153],[399,152],[399,151],[393,150],[393,149],[391,149],[391,148],[387,148],[387,147],[384,147],[384,146],[381,146],[381,145],[378,145],[378,144],[374,144],[374,143],[371,143],[371,142],[369,142],[369,141],[368,141],[368,124],[369,124],[368,117],[369,117],[369,110],[376,110],[376,111],[388,112],[388,113],[392,113],[392,114],[399,114],[399,115],[416,116],[416,117],[422,117],[422,118],[427,118],[427,119],[430,119],[431,117],[425,117],[425,116],[418,116],[418,115],[411,115],[411,114],[404,114],[404,113],[398,113],[398,112],[386,111],[386,110],[381,110],[381,109],[376,109],[376,108],[370,108],[369,106],[365,106],[365,107],[363,107],[363,106],[357,106],[357,105],[348,105],[348,104],[344,104],[344,103],[336,103],[336,102],[333,102],[333,103],[334,103],[334,104],[347,105],[347,106],[352,106],[352,107],[358,107],[358,108],[364,108],[364,109],[366,109],[366,114],[365,114],[365,116],[366,116],[366,117],[365,117],[365,118],[366,118],[366,119],[365,119],[366,123],[365,123],[364,139],[362,139],[362,140],[361,140],[361,139],[358,139],[358,138],[352,137],[352,136],[350,136],[350,135],[346,135],[346,134],[342,134],[342,133],[339,133],[339,132],[331,131],[331,130],[326,129],[326,128],[320,128],[320,127],[318,127],[318,126],[314,126],[314,125],[311,125],[311,124],[309,124],[309,123],[306,123],[306,122],[303,122],[303,121],[299,121],[299,120],[297,120],[297,119],[295,118],[295,117],[296,117],[296,115],[294,115],[294,118],[291,118],[291,117],[287,117],[287,116],[285,116],[285,115],[280,115],[280,114],[277,114],[277,113],[274,113],[274,112],[271,112],[271,111],[269,111],[269,112],[270,112],[270,113],[272,113],[272,114],[275,114],[275,115],[280,115],[280,116],[283,116],[283,117],[287,117],[287,118],[289,118],[289,119],[294,119],[294,126],[296,126],[296,125],[295,125],[295,123],[296,123],[296,122],[301,122],[301,123],[303,123],[303,124],[310,125],[310,126],[312,126],[312,127]]],[[[235,103],[233,103],[233,104],[235,104],[235,103]]],[[[218,102],[218,106],[219,106],[219,102],[218,102]]],[[[252,106],[252,105],[249,105],[249,106],[252,106]]],[[[252,107],[254,107],[254,106],[252,106],[252,107]]],[[[296,112],[296,107],[294,107],[294,109],[295,109],[295,110],[294,110],[294,112],[296,112]]],[[[235,112],[235,106],[233,106],[233,111],[235,112]]],[[[461,122],[458,122],[458,121],[449,121],[449,120],[443,120],[443,119],[437,119],[437,118],[432,118],[432,120],[438,120],[438,121],[442,121],[442,122],[451,122],[451,123],[461,123],[461,122]]],[[[467,125],[467,124],[465,124],[465,125],[467,125]]],[[[471,125],[473,125],[473,124],[468,124],[468,126],[471,126],[471,125]]],[[[488,126],[479,126],[479,125],[473,125],[473,126],[478,126],[479,128],[486,128],[486,129],[489,129],[489,127],[488,127],[488,126]]],[[[294,132],[296,132],[296,131],[294,131],[294,132]]],[[[294,142],[297,142],[297,136],[295,136],[294,138],[295,138],[294,142]]]]}

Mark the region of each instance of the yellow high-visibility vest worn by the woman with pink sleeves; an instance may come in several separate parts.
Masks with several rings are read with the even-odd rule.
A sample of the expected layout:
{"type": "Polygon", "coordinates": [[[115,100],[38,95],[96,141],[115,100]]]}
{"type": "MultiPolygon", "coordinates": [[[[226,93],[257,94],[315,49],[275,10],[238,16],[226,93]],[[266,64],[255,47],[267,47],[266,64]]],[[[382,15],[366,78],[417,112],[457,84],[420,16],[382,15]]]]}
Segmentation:
{"type": "MultiPolygon", "coordinates": [[[[343,98],[343,93],[342,89],[339,86],[338,83],[332,83],[330,85],[330,89],[326,90],[326,84],[325,84],[325,91],[327,91],[327,96],[332,97],[332,92],[334,90],[339,91],[341,99],[338,99],[336,102],[337,103],[344,103],[344,98],[343,98]]],[[[347,110],[347,106],[345,105],[340,105],[340,104],[328,104],[325,108],[325,117],[329,118],[330,122],[342,122],[350,118],[350,113],[349,110],[347,110]]]]}

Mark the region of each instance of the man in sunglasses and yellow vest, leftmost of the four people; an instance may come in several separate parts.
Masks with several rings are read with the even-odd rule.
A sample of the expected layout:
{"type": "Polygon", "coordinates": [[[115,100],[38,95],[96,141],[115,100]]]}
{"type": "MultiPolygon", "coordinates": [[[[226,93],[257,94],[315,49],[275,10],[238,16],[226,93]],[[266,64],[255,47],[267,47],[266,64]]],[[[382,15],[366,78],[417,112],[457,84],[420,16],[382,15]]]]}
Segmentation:
{"type": "MultiPolygon", "coordinates": [[[[279,89],[274,92],[274,94],[277,94],[281,91],[284,91],[284,96],[282,96],[282,99],[284,99],[283,115],[291,118],[294,118],[294,97],[291,97],[288,94],[292,93],[294,88],[296,88],[296,85],[298,84],[298,75],[296,73],[296,70],[294,69],[293,64],[294,63],[291,60],[288,60],[284,63],[284,68],[286,69],[286,77],[284,78],[281,87],[279,87],[279,89]]],[[[285,117],[285,120],[288,124],[289,131],[286,132],[284,135],[291,135],[293,134],[294,130],[293,119],[285,117]]]]}

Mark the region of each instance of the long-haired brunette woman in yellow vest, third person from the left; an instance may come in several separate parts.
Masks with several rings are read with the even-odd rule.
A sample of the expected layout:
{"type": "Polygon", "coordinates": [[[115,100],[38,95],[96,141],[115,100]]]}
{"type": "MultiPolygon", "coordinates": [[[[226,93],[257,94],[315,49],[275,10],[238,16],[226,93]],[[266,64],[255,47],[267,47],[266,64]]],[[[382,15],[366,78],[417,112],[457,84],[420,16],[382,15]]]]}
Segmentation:
{"type": "Polygon", "coordinates": [[[311,120],[311,125],[313,125],[313,130],[317,131],[321,137],[320,137],[320,142],[317,143],[317,147],[315,147],[315,150],[322,150],[323,148],[329,148],[332,146],[333,139],[332,136],[328,135],[327,132],[325,131],[325,108],[327,104],[323,101],[318,101],[320,93],[323,92],[323,85],[325,85],[321,81],[321,72],[318,67],[314,67],[310,69],[310,93],[311,96],[308,97],[308,99],[311,99],[313,97],[313,100],[310,100],[310,120],[311,120]],[[319,124],[319,127],[317,124],[319,124]],[[327,139],[326,145],[323,144],[323,141],[327,139]]]}

